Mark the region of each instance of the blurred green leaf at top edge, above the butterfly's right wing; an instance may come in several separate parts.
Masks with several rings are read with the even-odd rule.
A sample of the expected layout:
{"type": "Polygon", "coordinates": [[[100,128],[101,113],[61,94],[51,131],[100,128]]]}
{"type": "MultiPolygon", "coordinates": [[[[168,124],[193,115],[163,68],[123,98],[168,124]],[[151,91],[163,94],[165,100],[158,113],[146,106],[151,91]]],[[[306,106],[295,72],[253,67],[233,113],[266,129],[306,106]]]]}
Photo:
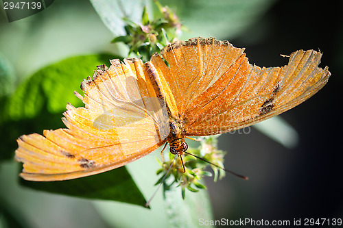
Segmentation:
{"type": "Polygon", "coordinates": [[[257,19],[275,1],[160,0],[161,5],[168,5],[171,9],[177,9],[176,13],[180,17],[182,25],[191,30],[188,34],[184,33],[181,40],[197,36],[214,36],[218,39],[235,38],[244,29],[256,23],[257,19]]]}

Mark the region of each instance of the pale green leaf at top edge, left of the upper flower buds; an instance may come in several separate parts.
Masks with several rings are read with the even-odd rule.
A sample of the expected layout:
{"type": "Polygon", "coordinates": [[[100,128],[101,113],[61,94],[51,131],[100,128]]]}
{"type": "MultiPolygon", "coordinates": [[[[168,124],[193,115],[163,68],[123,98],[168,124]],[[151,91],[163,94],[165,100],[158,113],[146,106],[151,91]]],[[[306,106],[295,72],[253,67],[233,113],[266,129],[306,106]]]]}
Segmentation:
{"type": "Polygon", "coordinates": [[[150,0],[90,0],[95,11],[102,21],[115,36],[125,36],[126,23],[123,18],[128,18],[140,24],[143,8],[150,8],[150,0]]]}

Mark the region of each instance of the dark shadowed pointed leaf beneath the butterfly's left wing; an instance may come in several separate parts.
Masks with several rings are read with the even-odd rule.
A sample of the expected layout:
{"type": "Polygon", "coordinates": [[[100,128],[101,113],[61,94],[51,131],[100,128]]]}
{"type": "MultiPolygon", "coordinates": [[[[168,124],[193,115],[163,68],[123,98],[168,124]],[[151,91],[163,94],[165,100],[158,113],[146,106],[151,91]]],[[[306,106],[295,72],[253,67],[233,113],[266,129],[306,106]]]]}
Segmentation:
{"type": "Polygon", "coordinates": [[[144,206],[146,201],[125,167],[68,181],[36,182],[21,179],[21,185],[86,199],[105,199],[144,206]]]}

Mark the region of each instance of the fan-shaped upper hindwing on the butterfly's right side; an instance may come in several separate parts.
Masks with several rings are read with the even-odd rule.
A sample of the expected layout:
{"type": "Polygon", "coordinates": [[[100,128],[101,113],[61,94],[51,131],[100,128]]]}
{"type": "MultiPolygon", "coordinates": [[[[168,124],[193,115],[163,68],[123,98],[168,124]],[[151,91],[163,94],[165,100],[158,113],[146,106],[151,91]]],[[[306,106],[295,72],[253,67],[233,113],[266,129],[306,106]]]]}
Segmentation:
{"type": "Polygon", "coordinates": [[[243,51],[227,41],[193,38],[186,42],[174,42],[161,51],[169,68],[159,55],[154,55],[151,62],[167,80],[182,116],[189,105],[214,84],[243,51]]]}

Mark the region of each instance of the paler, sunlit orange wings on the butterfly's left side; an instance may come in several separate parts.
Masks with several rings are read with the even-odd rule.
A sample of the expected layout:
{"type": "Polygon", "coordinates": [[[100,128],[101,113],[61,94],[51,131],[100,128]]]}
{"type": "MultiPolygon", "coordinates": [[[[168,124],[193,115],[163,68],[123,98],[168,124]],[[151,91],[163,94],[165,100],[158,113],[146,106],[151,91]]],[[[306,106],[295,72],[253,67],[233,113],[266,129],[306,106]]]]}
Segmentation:
{"type": "Polygon", "coordinates": [[[98,66],[93,79],[82,82],[85,107],[67,105],[66,129],[45,130],[17,141],[21,177],[57,181],[102,173],[137,160],[165,142],[166,109],[158,102],[141,60],[110,68],[98,66]]]}

